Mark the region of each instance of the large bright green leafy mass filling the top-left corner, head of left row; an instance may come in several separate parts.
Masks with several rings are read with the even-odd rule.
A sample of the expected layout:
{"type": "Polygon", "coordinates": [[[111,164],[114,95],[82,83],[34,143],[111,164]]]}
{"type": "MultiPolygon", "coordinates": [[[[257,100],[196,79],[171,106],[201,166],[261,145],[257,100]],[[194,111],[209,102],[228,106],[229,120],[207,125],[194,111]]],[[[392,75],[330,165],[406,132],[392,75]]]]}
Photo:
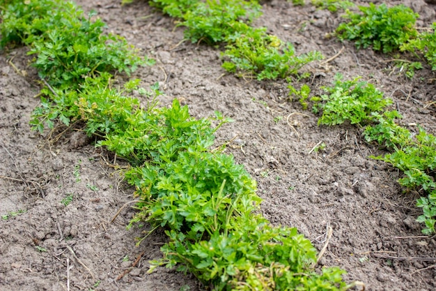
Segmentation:
{"type": "Polygon", "coordinates": [[[91,13],[64,1],[11,1],[3,13],[2,45],[31,45],[33,66],[42,79],[56,87],[77,87],[86,76],[104,71],[132,73],[152,61],[138,56],[127,41],[111,33],[105,24],[91,21],[91,13]],[[28,14],[26,14],[28,13],[28,14]]]}

